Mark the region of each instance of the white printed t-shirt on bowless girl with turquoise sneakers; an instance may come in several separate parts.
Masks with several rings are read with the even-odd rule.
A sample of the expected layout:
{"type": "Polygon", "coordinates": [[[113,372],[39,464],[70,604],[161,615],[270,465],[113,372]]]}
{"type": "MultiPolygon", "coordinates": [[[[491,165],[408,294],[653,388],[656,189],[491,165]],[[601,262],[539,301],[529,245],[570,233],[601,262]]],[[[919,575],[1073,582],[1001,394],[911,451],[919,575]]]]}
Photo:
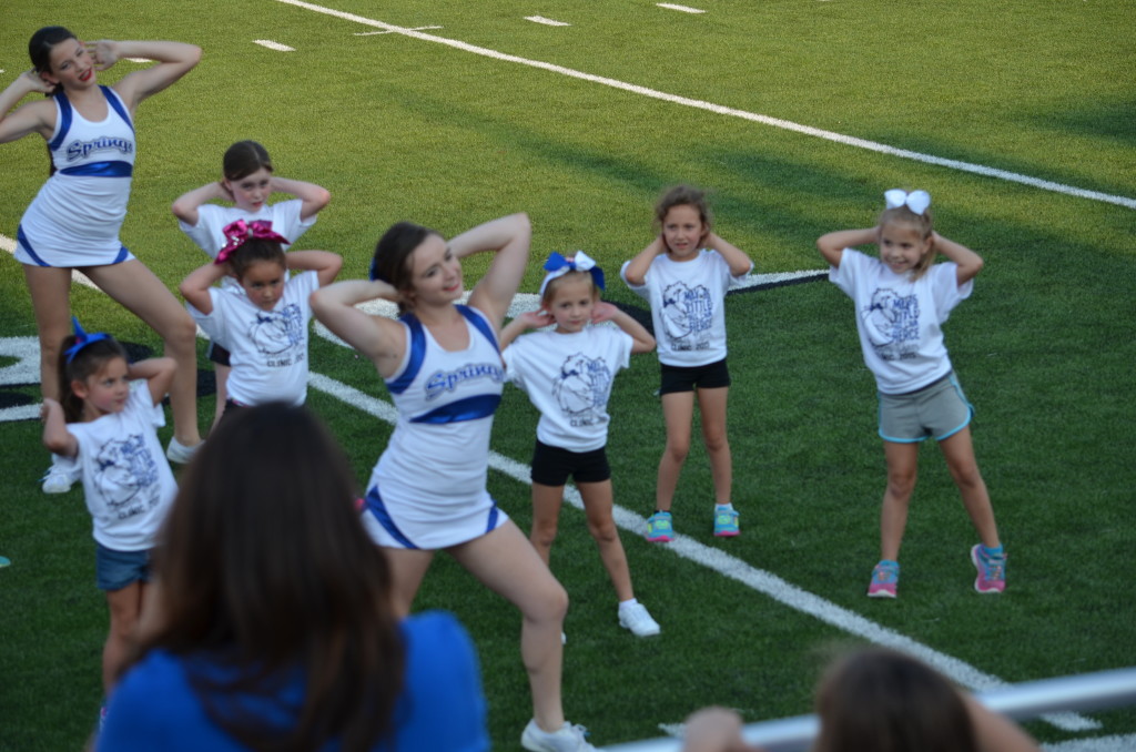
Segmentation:
{"type": "Polygon", "coordinates": [[[726,357],[726,291],[742,283],[717,251],[702,249],[690,261],[674,261],[660,253],[651,261],[642,285],[627,282],[627,265],[619,276],[640,298],[651,303],[651,320],[665,366],[694,367],[726,357]]]}

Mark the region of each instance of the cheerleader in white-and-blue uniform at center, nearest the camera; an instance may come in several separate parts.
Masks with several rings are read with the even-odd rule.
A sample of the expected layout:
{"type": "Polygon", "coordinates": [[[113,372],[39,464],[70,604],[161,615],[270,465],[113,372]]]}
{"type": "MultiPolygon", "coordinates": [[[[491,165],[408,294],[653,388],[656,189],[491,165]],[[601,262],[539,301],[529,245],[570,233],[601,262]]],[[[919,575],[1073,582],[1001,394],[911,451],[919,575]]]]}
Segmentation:
{"type": "Polygon", "coordinates": [[[520,653],[533,695],[521,745],[534,752],[590,752],[584,729],[565,720],[560,630],[568,595],[524,534],[488,495],[488,442],[504,368],[498,333],[528,260],[532,229],[516,214],[446,241],[412,223],[378,241],[369,281],[317,291],[324,325],[369,358],[399,421],[371,473],[364,524],[383,546],[395,610],[410,611],[435,551],[446,551],[520,609],[520,653]],[[465,293],[461,261],[491,252],[485,276],[465,293]],[[400,320],[358,308],[396,301],[400,320]]]}

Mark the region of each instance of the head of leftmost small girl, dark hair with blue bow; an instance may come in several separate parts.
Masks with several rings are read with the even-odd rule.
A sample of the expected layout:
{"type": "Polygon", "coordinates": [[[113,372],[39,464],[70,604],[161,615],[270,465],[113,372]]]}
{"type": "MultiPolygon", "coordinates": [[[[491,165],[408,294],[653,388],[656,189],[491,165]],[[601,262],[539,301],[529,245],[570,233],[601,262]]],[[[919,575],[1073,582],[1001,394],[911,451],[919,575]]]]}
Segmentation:
{"type": "Polygon", "coordinates": [[[109,334],[84,332],[75,317],[72,324],[75,333],[64,337],[59,350],[59,403],[64,419],[82,421],[87,401],[94,408],[87,417],[117,412],[125,404],[120,398],[128,365],[126,349],[109,334]]]}

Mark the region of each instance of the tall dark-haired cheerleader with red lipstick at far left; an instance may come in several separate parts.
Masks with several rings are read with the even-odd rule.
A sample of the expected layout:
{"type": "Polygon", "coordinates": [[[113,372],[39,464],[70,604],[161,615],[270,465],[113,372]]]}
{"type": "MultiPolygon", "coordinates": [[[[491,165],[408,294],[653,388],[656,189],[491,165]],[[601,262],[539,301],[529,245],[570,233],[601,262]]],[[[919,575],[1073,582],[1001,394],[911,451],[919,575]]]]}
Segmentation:
{"type": "MultiPolygon", "coordinates": [[[[118,239],[134,172],[137,106],[184,76],[201,50],[179,42],[86,44],[62,26],[32,35],[34,69],[0,93],[0,143],[37,133],[48,142],[51,176],[32,200],[16,231],[16,260],[32,295],[40,335],[40,381],[44,398],[58,399],[56,362],[70,323],[70,279],[82,269],[105,293],[139,316],[166,343],[177,371],[170,387],[174,437],[170,459],[184,462],[201,437],[197,411],[197,350],[193,321],[169,290],[118,239]],[[112,86],[98,72],[122,58],[156,64],[123,76],[112,86]],[[28,94],[50,99],[27,102],[28,94]]],[[[75,479],[68,463],[52,462],[43,491],[64,493],[75,479]]]]}

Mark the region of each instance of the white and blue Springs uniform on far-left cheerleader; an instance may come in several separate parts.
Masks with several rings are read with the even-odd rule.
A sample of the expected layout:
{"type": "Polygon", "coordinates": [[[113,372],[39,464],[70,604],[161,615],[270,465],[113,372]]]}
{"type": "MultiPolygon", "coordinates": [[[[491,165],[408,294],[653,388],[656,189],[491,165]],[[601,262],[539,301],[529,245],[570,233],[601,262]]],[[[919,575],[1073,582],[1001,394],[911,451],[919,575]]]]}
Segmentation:
{"type": "Polygon", "coordinates": [[[80,115],[66,94],[55,95],[48,150],[56,172],[16,229],[20,264],[74,268],[134,258],[118,240],[134,174],[134,124],[115,90],[99,89],[107,100],[101,123],[80,115]]]}

